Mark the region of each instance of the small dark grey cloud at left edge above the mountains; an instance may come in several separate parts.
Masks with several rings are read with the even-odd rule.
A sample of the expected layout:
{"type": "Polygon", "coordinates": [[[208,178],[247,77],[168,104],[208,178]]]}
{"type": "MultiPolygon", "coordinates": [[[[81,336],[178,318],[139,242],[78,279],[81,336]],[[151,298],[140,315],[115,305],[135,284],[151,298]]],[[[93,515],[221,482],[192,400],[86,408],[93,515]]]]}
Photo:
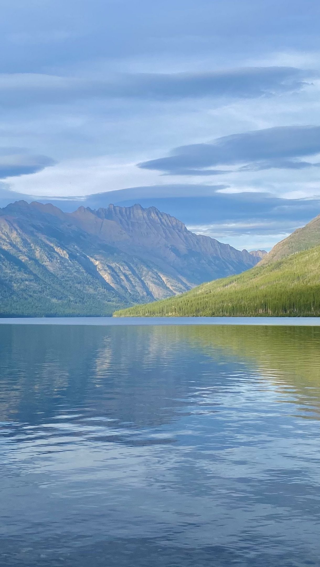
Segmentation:
{"type": "Polygon", "coordinates": [[[54,163],[52,158],[29,154],[24,148],[0,147],[0,179],[34,174],[54,163]]]}

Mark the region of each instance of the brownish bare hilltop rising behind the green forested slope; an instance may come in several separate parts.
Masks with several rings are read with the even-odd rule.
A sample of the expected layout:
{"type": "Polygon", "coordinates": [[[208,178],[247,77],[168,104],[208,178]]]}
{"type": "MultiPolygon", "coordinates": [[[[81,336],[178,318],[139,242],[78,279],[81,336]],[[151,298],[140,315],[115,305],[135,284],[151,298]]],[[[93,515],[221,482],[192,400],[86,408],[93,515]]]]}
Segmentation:
{"type": "Polygon", "coordinates": [[[320,245],[320,215],[315,217],[308,225],[292,232],[284,240],[278,242],[262,260],[263,264],[269,264],[275,260],[281,260],[295,252],[301,252],[308,248],[320,245]]]}

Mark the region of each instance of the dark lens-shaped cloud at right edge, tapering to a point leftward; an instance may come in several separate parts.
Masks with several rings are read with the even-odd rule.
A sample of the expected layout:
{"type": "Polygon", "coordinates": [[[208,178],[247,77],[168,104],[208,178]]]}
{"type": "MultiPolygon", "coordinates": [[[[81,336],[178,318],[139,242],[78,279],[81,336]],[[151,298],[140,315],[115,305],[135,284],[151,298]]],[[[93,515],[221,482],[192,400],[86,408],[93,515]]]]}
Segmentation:
{"type": "MultiPolygon", "coordinates": [[[[170,175],[212,175],[216,166],[240,166],[238,171],[276,168],[305,168],[312,164],[299,160],[320,152],[320,126],[275,126],[232,134],[210,143],[177,147],[167,158],[139,163],[142,169],[170,175]],[[190,174],[192,171],[192,174],[190,174]]],[[[221,172],[221,171],[220,171],[221,172]]]]}

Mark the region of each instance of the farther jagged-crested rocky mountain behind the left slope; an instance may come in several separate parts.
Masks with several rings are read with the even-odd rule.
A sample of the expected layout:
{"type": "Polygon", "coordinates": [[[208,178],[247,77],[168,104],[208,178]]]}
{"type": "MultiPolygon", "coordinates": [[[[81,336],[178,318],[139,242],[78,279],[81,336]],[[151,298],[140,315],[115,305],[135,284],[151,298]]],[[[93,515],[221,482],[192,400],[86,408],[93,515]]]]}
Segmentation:
{"type": "Polygon", "coordinates": [[[98,210],[80,207],[70,218],[89,234],[123,252],[152,261],[174,278],[181,278],[187,289],[243,272],[261,259],[214,238],[194,234],[184,223],[155,207],[109,205],[108,209],[98,210]]]}

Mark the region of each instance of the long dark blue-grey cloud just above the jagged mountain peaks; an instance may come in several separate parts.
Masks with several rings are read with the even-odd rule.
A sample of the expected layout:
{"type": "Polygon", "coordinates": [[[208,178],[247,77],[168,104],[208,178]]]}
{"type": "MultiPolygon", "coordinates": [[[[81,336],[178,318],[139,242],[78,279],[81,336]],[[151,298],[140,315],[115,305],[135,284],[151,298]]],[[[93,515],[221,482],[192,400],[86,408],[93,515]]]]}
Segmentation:
{"type": "Polygon", "coordinates": [[[289,221],[292,226],[305,224],[320,213],[320,197],[281,198],[260,192],[221,192],[216,185],[155,185],[135,187],[89,195],[88,206],[99,208],[110,202],[130,206],[138,202],[144,207],[158,209],[180,218],[188,225],[216,223],[270,223],[289,221]]]}

